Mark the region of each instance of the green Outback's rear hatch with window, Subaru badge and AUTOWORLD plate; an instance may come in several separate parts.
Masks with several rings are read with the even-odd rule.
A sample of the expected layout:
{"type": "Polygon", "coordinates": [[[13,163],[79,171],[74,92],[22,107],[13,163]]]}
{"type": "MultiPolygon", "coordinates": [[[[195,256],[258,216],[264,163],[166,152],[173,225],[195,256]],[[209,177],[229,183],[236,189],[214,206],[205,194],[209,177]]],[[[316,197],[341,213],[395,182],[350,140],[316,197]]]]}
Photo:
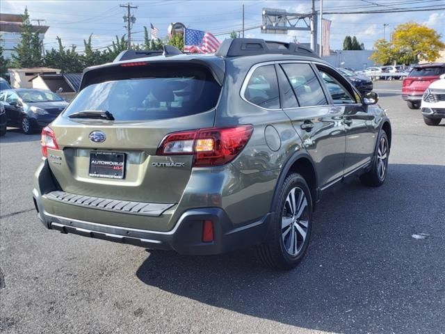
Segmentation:
{"type": "Polygon", "coordinates": [[[204,65],[138,61],[88,72],[51,124],[59,150],[49,166],[67,193],[136,202],[179,202],[193,155],[159,156],[163,138],[213,127],[220,84],[204,65]],[[130,64],[130,65],[129,65],[130,64]],[[132,64],[132,65],[131,65],[132,64]]]}

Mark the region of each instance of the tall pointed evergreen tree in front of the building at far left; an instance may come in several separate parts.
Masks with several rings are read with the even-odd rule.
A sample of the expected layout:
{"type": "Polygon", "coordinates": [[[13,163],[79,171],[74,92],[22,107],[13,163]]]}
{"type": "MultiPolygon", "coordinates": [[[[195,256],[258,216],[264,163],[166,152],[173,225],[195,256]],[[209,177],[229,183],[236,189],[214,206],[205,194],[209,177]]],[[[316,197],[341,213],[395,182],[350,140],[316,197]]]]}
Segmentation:
{"type": "Polygon", "coordinates": [[[29,21],[28,9],[25,8],[20,25],[20,42],[14,47],[12,55],[13,67],[37,67],[42,65],[42,42],[39,31],[33,33],[33,26],[29,21]]]}

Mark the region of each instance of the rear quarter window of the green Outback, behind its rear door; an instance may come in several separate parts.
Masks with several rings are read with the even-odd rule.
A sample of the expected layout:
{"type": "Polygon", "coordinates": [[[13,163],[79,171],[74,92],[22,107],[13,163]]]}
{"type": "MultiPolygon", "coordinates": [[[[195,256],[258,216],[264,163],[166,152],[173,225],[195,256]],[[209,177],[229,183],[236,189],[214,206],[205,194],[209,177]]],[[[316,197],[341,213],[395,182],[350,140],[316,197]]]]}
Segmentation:
{"type": "Polygon", "coordinates": [[[245,100],[267,109],[280,109],[280,91],[274,65],[254,70],[244,92],[245,100]]]}

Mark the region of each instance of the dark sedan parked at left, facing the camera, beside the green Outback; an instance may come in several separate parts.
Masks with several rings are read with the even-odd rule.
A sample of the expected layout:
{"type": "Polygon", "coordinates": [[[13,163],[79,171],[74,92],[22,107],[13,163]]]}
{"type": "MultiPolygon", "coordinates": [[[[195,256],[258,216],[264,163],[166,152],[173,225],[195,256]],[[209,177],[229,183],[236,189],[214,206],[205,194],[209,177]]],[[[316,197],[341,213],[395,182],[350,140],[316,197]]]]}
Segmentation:
{"type": "Polygon", "coordinates": [[[0,102],[6,109],[8,127],[20,127],[25,134],[46,127],[68,105],[49,90],[26,88],[2,90],[0,102]]]}

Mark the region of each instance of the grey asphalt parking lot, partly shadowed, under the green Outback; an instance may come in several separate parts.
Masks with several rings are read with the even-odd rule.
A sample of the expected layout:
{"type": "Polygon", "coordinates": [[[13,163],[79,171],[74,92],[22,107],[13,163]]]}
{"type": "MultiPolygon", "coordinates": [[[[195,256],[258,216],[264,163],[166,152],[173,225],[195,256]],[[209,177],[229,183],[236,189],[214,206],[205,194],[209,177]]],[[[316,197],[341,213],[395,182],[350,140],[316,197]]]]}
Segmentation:
{"type": "Polygon", "coordinates": [[[1,333],[445,333],[445,120],[426,126],[401,81],[375,88],[393,126],[387,182],[327,193],[289,272],[252,250],[185,257],[45,230],[31,197],[40,136],[9,129],[1,333]]]}

